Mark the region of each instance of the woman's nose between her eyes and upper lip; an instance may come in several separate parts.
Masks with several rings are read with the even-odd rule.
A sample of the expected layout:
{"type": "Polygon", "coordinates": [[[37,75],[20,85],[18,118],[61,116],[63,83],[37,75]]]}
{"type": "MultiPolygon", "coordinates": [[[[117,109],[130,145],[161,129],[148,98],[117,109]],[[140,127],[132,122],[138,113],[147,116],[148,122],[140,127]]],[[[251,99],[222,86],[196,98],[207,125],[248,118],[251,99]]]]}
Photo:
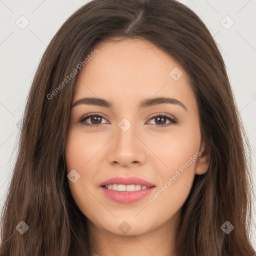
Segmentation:
{"type": "Polygon", "coordinates": [[[116,128],[116,135],[111,139],[108,162],[112,165],[139,166],[146,159],[146,146],[135,124],[125,129],[116,128]]]}

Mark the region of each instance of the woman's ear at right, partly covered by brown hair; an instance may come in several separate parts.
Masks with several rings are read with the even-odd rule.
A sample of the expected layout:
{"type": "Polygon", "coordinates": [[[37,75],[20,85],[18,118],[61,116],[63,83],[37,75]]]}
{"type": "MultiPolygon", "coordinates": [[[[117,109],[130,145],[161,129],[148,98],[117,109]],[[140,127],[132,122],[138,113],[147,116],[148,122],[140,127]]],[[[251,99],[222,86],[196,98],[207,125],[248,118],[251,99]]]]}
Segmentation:
{"type": "Polygon", "coordinates": [[[204,174],[210,164],[210,151],[209,148],[205,145],[205,141],[202,140],[199,151],[201,154],[197,158],[195,165],[195,174],[201,175],[204,174]]]}

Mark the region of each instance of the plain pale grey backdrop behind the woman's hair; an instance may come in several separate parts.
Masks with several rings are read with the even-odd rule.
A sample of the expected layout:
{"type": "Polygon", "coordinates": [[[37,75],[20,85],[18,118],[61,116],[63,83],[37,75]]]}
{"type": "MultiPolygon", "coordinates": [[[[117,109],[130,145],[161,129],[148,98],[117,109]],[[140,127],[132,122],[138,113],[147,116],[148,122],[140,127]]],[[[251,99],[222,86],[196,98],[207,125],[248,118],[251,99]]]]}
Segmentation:
{"type": "MultiPolygon", "coordinates": [[[[0,0],[1,208],[15,161],[19,120],[39,60],[60,25],[86,2],[88,0],[0,0]]],[[[255,184],[256,1],[180,2],[195,11],[206,24],[224,58],[235,100],[253,148],[252,177],[255,184]]],[[[253,198],[254,219],[255,204],[253,198]]],[[[254,247],[255,233],[253,226],[251,239],[254,247]]]]}

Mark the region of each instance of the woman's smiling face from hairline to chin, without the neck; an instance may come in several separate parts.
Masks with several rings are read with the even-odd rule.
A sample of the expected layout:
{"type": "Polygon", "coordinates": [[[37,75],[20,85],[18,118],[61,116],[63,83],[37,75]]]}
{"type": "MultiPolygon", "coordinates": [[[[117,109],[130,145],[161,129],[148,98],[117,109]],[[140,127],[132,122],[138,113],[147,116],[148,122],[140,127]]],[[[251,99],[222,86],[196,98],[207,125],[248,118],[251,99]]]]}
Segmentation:
{"type": "Polygon", "coordinates": [[[108,41],[95,48],[73,94],[65,144],[71,194],[93,225],[111,233],[130,227],[127,234],[142,234],[176,222],[194,175],[207,170],[185,72],[149,42],[108,41]],[[85,97],[97,101],[79,100],[85,97]],[[143,181],[136,178],[154,186],[133,192],[101,186],[112,177],[135,177],[129,186],[114,181],[122,184],[118,190],[140,189],[135,184],[143,181]]]}

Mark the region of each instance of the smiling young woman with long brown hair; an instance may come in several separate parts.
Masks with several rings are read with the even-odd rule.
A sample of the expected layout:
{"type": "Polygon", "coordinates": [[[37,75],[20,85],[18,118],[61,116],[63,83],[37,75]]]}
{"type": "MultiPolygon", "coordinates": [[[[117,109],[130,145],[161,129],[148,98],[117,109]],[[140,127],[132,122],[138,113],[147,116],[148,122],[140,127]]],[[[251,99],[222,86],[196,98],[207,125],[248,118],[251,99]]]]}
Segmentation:
{"type": "Polygon", "coordinates": [[[26,104],[3,255],[255,255],[248,149],[223,59],[174,0],[93,0],[26,104]]]}

